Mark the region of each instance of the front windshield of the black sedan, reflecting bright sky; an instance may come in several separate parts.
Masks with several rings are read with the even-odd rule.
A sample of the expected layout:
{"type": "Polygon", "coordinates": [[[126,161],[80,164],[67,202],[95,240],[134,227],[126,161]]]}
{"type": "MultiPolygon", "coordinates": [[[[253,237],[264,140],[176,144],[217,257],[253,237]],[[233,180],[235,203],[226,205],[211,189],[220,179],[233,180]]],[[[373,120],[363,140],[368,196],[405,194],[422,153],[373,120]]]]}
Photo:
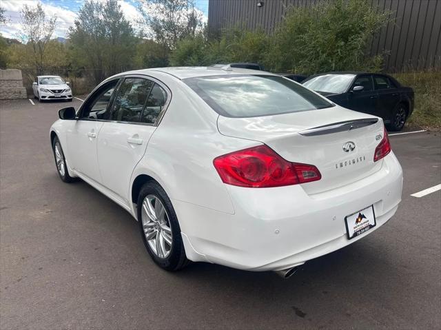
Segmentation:
{"type": "Polygon", "coordinates": [[[323,74],[305,81],[302,85],[319,93],[340,94],[346,92],[354,78],[355,74],[323,74]]]}

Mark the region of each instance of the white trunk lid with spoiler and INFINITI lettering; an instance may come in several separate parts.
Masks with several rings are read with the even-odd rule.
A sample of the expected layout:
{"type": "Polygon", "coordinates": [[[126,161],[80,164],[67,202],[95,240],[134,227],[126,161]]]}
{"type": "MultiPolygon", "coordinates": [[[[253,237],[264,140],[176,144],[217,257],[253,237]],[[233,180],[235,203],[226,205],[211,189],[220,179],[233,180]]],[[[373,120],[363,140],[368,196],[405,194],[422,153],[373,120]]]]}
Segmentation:
{"type": "Polygon", "coordinates": [[[321,180],[302,185],[307,194],[356,182],[377,172],[382,163],[373,162],[382,121],[338,106],[253,118],[219,116],[218,130],[265,143],[287,161],[318,167],[321,180]]]}

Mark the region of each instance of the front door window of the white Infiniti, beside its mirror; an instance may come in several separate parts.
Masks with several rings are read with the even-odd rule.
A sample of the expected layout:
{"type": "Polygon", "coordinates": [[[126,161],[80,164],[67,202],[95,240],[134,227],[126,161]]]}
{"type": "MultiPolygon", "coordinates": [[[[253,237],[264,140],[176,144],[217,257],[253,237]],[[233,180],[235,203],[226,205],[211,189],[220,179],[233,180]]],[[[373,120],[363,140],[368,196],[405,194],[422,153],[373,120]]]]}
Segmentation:
{"type": "Polygon", "coordinates": [[[110,81],[94,92],[90,99],[83,105],[81,118],[104,119],[107,105],[110,103],[110,98],[117,83],[118,80],[110,81]]]}

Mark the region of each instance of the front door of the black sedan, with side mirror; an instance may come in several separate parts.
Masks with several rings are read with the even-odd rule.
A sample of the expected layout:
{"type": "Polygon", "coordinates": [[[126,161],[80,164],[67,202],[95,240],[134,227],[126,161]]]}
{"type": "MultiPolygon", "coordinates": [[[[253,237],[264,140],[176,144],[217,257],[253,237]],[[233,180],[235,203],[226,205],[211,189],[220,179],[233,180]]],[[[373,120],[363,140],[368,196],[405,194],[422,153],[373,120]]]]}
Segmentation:
{"type": "Polygon", "coordinates": [[[372,76],[365,74],[358,76],[349,89],[349,109],[365,114],[376,114],[378,94],[373,88],[372,76]],[[362,90],[353,90],[354,87],[362,86],[362,90]]]}

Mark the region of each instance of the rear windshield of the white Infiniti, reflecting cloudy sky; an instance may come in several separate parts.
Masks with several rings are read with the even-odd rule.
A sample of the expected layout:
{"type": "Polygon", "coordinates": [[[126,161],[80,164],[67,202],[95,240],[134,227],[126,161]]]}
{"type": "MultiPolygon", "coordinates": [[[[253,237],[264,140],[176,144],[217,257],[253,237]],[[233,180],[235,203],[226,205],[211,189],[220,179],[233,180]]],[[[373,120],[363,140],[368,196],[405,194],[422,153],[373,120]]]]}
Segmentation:
{"type": "Polygon", "coordinates": [[[203,76],[183,81],[218,114],[227,117],[271,116],[334,106],[281,76],[203,76]]]}

